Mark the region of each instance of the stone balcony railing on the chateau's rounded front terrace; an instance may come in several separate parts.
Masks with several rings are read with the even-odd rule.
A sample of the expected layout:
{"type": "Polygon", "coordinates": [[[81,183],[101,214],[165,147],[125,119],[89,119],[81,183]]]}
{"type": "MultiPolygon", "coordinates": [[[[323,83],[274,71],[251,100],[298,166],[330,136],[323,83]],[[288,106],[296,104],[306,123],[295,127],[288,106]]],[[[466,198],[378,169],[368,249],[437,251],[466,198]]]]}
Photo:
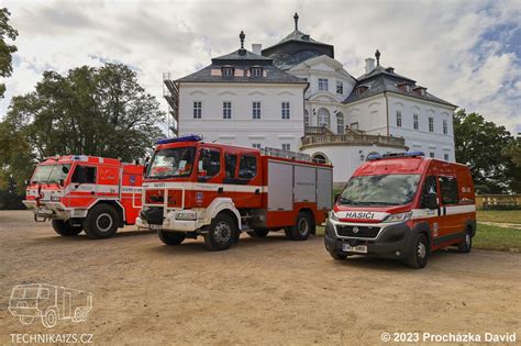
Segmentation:
{"type": "MultiPolygon", "coordinates": [[[[324,127],[308,127],[308,129],[324,129],[324,127]]],[[[312,131],[317,131],[317,130],[312,130],[312,131]]],[[[308,146],[328,145],[328,144],[333,144],[333,145],[380,144],[380,145],[407,149],[406,139],[402,137],[369,135],[369,134],[359,133],[353,130],[346,130],[345,134],[333,134],[329,130],[328,130],[328,133],[317,133],[317,134],[309,134],[308,131],[306,131],[306,135],[301,138],[300,148],[302,149],[308,146]]]]}

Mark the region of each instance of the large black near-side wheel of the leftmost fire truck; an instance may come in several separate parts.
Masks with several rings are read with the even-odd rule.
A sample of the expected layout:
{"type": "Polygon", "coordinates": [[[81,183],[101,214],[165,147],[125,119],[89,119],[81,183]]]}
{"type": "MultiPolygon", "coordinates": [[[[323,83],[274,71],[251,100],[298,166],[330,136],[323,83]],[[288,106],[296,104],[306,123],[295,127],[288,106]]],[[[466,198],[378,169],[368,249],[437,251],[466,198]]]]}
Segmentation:
{"type": "Polygon", "coordinates": [[[91,239],[110,238],[118,231],[120,220],[112,205],[98,204],[92,208],[84,220],[84,228],[91,239]]]}

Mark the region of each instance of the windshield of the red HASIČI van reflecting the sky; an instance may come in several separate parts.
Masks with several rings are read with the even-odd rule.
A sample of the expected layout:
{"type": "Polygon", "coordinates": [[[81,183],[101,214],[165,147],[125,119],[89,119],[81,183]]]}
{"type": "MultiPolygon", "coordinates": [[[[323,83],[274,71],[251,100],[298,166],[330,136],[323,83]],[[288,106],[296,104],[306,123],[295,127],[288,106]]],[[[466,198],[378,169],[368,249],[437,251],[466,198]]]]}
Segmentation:
{"type": "Polygon", "coordinates": [[[402,205],[410,203],[420,175],[361,176],[350,179],[339,203],[344,205],[402,205]]]}

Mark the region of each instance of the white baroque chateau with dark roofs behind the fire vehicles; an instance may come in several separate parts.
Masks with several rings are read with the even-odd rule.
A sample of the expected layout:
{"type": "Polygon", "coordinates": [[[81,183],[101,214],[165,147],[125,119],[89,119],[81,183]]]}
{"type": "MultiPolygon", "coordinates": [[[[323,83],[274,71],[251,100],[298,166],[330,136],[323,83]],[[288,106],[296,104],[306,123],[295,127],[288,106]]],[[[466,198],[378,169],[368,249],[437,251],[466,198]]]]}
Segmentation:
{"type": "Polygon", "coordinates": [[[420,150],[455,160],[451,104],[415,80],[366,59],[354,78],[334,47],[298,30],[275,45],[241,47],[203,69],[165,79],[177,134],[309,154],[331,163],[333,180],[347,181],[369,154],[420,150]]]}

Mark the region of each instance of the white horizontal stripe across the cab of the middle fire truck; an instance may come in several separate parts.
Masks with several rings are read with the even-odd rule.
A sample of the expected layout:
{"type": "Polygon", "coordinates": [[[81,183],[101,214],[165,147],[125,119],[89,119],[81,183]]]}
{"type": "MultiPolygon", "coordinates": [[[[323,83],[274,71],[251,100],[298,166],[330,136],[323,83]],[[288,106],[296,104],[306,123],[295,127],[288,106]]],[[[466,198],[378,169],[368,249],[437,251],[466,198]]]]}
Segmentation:
{"type": "Polygon", "coordinates": [[[267,192],[268,187],[263,186],[251,186],[251,185],[234,185],[234,183],[210,183],[210,182],[191,182],[191,181],[176,181],[176,182],[145,182],[143,189],[155,190],[155,189],[171,189],[171,188],[184,188],[186,191],[217,191],[219,188],[223,188],[225,192],[267,192]]]}

